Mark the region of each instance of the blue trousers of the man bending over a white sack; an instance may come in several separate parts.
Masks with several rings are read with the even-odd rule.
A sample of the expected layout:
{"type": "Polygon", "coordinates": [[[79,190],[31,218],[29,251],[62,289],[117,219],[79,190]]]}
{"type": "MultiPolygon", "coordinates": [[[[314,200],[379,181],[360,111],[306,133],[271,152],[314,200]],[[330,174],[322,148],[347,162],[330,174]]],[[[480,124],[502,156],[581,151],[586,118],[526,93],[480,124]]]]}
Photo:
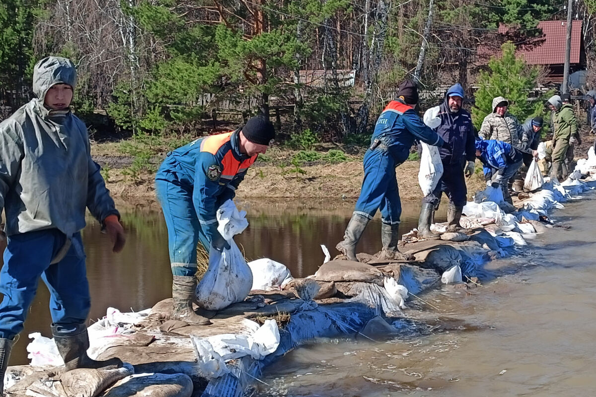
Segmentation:
{"type": "Polygon", "coordinates": [[[178,174],[162,167],[155,178],[157,199],[162,205],[167,226],[167,246],[174,276],[194,276],[197,273],[197,243],[210,251],[193,204],[193,186],[178,179],[178,174]]]}

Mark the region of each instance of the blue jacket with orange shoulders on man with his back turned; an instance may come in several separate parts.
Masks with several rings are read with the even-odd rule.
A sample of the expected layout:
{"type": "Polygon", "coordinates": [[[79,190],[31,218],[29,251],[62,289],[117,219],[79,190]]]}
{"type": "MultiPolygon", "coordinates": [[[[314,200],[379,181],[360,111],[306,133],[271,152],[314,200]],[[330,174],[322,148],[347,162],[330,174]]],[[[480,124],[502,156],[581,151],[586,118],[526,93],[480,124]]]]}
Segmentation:
{"type": "Polygon", "coordinates": [[[423,123],[414,108],[399,99],[389,102],[377,119],[371,145],[380,140],[399,165],[408,158],[414,139],[433,146],[443,144],[443,139],[423,123]]]}

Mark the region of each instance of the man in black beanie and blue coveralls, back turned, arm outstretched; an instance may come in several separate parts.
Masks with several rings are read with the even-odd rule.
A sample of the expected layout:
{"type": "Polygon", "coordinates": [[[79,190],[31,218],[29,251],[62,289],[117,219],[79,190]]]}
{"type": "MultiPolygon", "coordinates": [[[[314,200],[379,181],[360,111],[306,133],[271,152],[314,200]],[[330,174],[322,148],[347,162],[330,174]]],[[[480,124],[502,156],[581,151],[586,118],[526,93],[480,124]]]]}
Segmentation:
{"type": "Polygon", "coordinates": [[[405,259],[398,250],[402,205],[395,168],[408,158],[414,139],[434,146],[445,145],[443,139],[418,117],[414,110],[417,103],[417,86],[405,80],[398,87],[398,99],[389,102],[378,117],[371,146],[364,155],[364,180],[360,196],[343,241],[336,246],[350,261],[358,261],[356,244],[378,209],[381,210],[383,242],[381,259],[405,259]]]}

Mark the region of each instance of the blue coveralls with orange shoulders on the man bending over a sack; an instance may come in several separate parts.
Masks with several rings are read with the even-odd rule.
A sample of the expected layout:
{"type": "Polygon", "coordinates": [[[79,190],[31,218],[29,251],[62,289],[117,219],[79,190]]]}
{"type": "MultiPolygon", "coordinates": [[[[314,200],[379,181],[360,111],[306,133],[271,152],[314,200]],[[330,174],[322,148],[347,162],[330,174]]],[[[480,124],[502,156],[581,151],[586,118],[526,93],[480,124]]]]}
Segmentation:
{"type": "Polygon", "coordinates": [[[240,152],[238,130],[194,140],[167,154],[155,178],[166,220],[174,276],[194,276],[197,243],[210,251],[218,208],[235,190],[257,155],[240,152]]]}

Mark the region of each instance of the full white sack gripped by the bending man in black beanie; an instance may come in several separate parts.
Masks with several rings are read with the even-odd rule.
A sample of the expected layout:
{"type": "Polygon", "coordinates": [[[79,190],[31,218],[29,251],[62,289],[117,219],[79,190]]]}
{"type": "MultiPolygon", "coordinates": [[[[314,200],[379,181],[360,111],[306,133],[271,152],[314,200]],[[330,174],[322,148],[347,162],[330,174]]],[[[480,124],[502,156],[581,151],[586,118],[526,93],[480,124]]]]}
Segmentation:
{"type": "Polygon", "coordinates": [[[232,236],[242,233],[248,222],[246,212],[238,211],[234,202],[226,201],[217,212],[218,230],[229,249],[209,252],[209,267],[195,292],[197,304],[206,310],[221,310],[244,301],[253,285],[253,274],[232,236]]]}

